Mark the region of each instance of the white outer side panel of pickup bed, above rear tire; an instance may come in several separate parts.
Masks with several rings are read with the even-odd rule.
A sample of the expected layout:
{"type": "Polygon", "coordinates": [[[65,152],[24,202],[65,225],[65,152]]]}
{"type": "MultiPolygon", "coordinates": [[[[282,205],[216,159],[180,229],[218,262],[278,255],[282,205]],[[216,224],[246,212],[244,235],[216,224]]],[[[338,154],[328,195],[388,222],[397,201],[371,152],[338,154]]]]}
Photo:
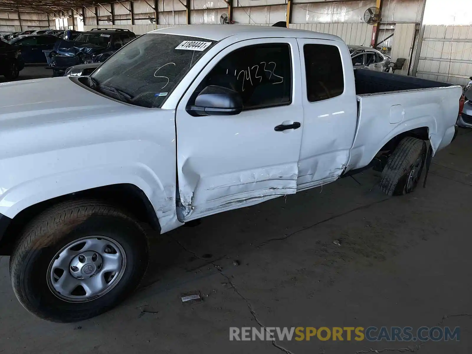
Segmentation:
{"type": "Polygon", "coordinates": [[[390,139],[427,127],[433,154],[447,146],[455,131],[460,86],[358,95],[359,116],[349,169],[366,166],[390,139]]]}

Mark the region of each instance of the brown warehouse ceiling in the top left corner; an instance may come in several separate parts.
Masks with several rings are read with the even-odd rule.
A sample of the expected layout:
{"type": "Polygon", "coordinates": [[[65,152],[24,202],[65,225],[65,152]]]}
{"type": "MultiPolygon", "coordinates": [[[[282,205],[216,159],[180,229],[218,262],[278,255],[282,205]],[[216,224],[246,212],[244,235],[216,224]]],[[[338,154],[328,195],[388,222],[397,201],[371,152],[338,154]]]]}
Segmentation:
{"type": "Polygon", "coordinates": [[[0,0],[0,9],[8,11],[54,12],[67,11],[71,8],[95,6],[114,0],[0,0]]]}

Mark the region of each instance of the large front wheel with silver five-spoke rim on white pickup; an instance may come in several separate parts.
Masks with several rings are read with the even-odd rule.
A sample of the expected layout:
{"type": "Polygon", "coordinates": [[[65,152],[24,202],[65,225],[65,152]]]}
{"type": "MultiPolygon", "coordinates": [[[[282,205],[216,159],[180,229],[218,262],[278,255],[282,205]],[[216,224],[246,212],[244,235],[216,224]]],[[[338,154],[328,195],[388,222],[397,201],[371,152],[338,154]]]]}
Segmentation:
{"type": "MultiPolygon", "coordinates": [[[[99,246],[95,245],[95,248],[99,246]]],[[[15,295],[26,310],[45,320],[75,322],[97,316],[122,302],[139,285],[147,264],[147,238],[135,219],[105,202],[80,200],[60,203],[26,225],[10,257],[10,276],[15,295]],[[81,245],[89,243],[110,246],[104,250],[84,252],[85,246],[81,245]],[[72,247],[72,244],[76,245],[72,247]],[[75,253],[87,255],[95,251],[103,257],[100,258],[102,265],[95,267],[95,263],[90,263],[90,267],[89,263],[84,263],[78,274],[86,271],[87,267],[95,267],[93,271],[97,274],[87,279],[76,278],[71,264],[77,257],[84,256],[75,253]],[[69,263],[67,257],[73,254],[75,256],[69,263]],[[111,263],[105,257],[114,257],[117,271],[106,272],[107,264],[111,263]],[[62,275],[57,275],[61,269],[56,267],[56,262],[66,264],[67,270],[62,275]],[[108,273],[111,275],[107,276],[108,273]],[[85,290],[88,287],[82,287],[82,293],[86,294],[80,295],[79,286],[61,293],[56,288],[64,276],[68,277],[64,279],[69,279],[69,283],[84,284],[93,279],[97,284],[104,284],[104,290],[98,295],[88,296],[85,290]],[[56,281],[56,277],[60,277],[59,280],[56,281]],[[112,280],[107,284],[104,277],[112,280]]]]}

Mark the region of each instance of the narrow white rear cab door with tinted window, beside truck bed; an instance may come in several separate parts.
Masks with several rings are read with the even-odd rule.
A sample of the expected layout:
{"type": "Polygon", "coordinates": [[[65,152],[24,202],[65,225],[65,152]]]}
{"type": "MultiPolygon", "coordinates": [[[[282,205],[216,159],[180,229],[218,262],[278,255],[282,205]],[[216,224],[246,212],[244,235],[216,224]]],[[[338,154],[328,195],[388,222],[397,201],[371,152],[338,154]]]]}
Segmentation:
{"type": "Polygon", "coordinates": [[[303,190],[333,182],[346,169],[357,124],[357,102],[354,73],[346,45],[341,42],[320,39],[299,38],[297,41],[302,63],[302,77],[307,77],[306,72],[308,71],[308,76],[313,76],[312,78],[308,77],[308,80],[326,81],[321,82],[320,86],[324,91],[328,91],[328,97],[320,97],[318,101],[310,100],[307,81],[302,80],[304,127],[298,164],[297,188],[303,190]],[[311,49],[307,47],[307,63],[305,63],[304,46],[310,44],[315,44],[316,47],[311,47],[311,49]],[[335,59],[340,60],[342,67],[328,63],[326,72],[329,75],[318,77],[313,74],[319,70],[319,63],[325,62],[323,59],[326,58],[317,57],[323,51],[331,53],[331,62],[335,59]],[[310,65],[314,67],[310,69],[308,67],[310,65]],[[309,70],[312,70],[313,73],[310,74],[309,70]],[[333,72],[334,70],[342,70],[342,73],[336,74],[333,72]],[[344,85],[341,84],[341,86],[344,87],[339,89],[329,86],[332,75],[338,75],[337,77],[342,75],[344,85]],[[334,91],[335,89],[337,91],[334,91]]]}

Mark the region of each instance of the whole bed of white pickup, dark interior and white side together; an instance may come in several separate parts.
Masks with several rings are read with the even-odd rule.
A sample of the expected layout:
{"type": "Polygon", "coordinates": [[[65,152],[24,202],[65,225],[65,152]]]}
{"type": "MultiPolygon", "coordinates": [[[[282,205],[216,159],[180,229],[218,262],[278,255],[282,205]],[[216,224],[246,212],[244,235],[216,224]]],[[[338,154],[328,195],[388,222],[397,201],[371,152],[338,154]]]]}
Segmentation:
{"type": "Polygon", "coordinates": [[[354,76],[358,117],[349,169],[368,165],[405,130],[426,127],[433,153],[451,142],[461,86],[365,69],[354,76]]]}

